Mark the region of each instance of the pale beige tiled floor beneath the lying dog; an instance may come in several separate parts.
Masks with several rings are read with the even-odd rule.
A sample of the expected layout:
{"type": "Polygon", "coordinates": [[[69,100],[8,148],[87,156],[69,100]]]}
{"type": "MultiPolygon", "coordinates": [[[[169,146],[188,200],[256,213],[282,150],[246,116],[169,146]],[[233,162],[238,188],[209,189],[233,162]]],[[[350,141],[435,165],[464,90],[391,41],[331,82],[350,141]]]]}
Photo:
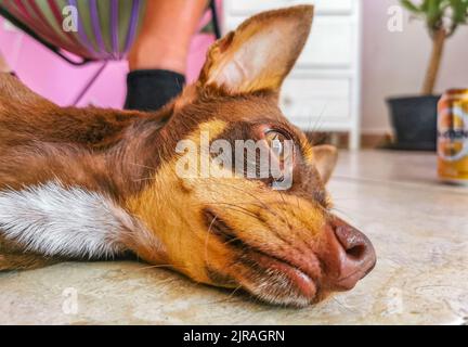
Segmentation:
{"type": "Polygon", "coordinates": [[[269,307],[132,262],[62,264],[0,274],[0,323],[468,323],[468,188],[440,184],[433,155],[361,152],[341,155],[329,189],[378,264],[318,306],[269,307]]]}

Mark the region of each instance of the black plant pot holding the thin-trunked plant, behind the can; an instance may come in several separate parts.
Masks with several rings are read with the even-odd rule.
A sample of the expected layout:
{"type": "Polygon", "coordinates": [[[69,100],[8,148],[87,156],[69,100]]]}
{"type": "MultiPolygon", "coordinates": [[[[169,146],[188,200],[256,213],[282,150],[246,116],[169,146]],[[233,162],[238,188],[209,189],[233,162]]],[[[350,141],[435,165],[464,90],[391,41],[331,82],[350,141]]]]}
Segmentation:
{"type": "Polygon", "coordinates": [[[405,151],[437,150],[437,115],[440,97],[387,100],[395,140],[390,147],[405,151]]]}

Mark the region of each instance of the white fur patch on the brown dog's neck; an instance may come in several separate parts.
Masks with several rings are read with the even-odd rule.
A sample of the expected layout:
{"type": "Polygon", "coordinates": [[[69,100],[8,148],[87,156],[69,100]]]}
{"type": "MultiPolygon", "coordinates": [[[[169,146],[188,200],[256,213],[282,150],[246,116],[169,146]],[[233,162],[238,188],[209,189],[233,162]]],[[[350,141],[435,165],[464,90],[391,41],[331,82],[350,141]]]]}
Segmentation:
{"type": "Polygon", "coordinates": [[[112,257],[134,221],[103,194],[58,182],[0,191],[0,232],[48,256],[112,257]]]}

